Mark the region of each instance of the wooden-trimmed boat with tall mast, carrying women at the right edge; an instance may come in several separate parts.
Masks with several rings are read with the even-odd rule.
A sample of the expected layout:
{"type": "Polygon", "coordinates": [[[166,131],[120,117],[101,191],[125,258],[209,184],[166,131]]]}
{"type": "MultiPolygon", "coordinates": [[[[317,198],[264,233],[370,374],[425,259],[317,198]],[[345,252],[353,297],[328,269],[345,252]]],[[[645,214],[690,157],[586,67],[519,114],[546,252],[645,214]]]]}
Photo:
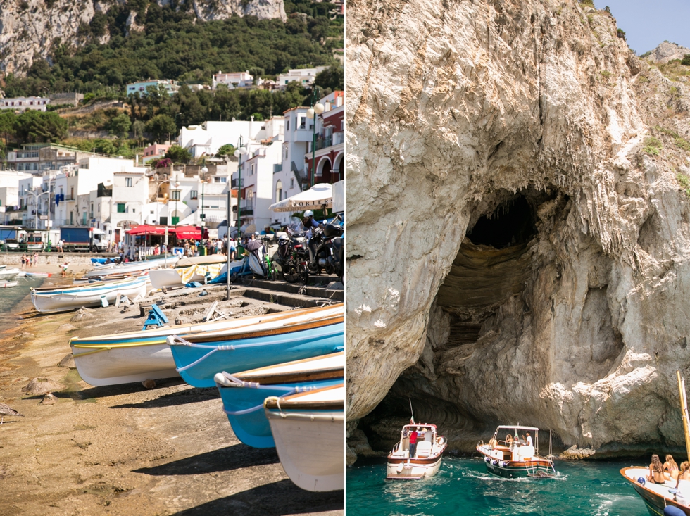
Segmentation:
{"type": "MultiPolygon", "coordinates": [[[[685,434],[685,447],[690,460],[690,417],[688,415],[688,402],[685,391],[685,379],[681,378],[680,371],[676,372],[678,380],[678,394],[680,398],[680,413],[685,434]]],[[[675,489],[676,481],[667,480],[663,484],[650,482],[649,467],[631,466],[620,470],[623,478],[632,484],[632,488],[641,496],[644,505],[652,516],[663,516],[664,509],[668,506],[675,507],[690,516],[690,486],[681,481],[680,489],[675,489]]]]}

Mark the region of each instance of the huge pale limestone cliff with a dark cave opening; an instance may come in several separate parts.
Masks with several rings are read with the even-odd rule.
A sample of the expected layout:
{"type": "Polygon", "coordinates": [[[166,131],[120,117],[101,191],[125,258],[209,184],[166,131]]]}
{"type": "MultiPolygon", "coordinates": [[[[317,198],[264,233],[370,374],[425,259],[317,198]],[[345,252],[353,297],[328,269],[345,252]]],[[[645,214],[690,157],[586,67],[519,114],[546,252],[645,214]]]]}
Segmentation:
{"type": "Polygon", "coordinates": [[[382,400],[377,417],[406,415],[408,397],[460,450],[517,422],[612,453],[682,446],[684,77],[574,0],[348,8],[358,449],[357,421],[382,400]]]}

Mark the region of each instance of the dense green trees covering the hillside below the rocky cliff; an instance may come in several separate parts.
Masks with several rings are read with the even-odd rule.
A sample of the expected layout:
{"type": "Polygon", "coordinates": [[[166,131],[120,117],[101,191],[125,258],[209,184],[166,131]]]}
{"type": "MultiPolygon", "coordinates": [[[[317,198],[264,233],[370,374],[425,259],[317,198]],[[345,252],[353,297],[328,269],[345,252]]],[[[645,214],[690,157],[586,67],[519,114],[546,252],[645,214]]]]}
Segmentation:
{"type": "Polygon", "coordinates": [[[342,20],[329,18],[334,8],[287,3],[286,23],[253,16],[203,22],[173,4],[130,0],[82,25],[79,46],[56,38],[49,59],[36,59],[26,77],[5,77],[5,96],[116,94],[128,82],[149,78],[210,84],[218,70],[271,76],[288,68],[331,65],[332,50],[343,44],[342,20]],[[127,31],[132,11],[141,13],[137,23],[142,30],[127,31]],[[106,33],[110,39],[99,44],[106,33]]]}

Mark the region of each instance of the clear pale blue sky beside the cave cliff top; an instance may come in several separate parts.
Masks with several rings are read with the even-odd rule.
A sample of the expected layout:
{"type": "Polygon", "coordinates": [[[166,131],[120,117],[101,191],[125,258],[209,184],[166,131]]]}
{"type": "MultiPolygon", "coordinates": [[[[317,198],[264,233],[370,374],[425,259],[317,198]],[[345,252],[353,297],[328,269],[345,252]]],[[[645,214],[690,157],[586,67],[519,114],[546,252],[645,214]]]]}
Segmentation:
{"type": "Polygon", "coordinates": [[[638,56],[665,40],[690,49],[690,0],[594,0],[594,5],[611,8],[638,56]]]}

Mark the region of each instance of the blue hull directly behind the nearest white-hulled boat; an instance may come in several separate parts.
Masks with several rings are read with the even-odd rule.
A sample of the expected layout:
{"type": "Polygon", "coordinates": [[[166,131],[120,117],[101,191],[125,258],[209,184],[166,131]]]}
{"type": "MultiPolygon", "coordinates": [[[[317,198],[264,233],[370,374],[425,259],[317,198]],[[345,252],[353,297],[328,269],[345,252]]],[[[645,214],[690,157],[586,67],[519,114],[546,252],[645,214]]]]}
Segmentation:
{"type": "Polygon", "coordinates": [[[341,383],[343,383],[342,378],[334,378],[318,382],[266,385],[257,389],[218,386],[218,390],[222,398],[223,412],[227,415],[227,420],[237,439],[252,448],[273,448],[275,441],[263,410],[265,398],[284,396],[296,389],[300,391],[320,389],[341,383]],[[251,412],[246,412],[249,410],[251,412]]]}

